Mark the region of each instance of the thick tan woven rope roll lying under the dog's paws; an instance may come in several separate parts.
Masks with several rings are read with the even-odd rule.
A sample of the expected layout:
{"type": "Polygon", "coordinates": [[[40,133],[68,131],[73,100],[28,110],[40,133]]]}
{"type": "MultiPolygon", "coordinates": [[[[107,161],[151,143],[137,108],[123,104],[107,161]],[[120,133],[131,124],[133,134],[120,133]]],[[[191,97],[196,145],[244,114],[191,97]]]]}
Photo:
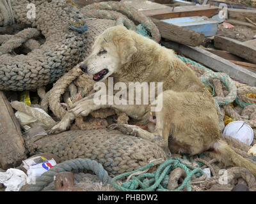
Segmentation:
{"type": "Polygon", "coordinates": [[[25,143],[30,155],[47,152],[60,157],[61,162],[92,159],[111,175],[136,170],[153,159],[166,159],[155,143],[106,129],[65,131],[36,141],[26,136],[25,143]]]}

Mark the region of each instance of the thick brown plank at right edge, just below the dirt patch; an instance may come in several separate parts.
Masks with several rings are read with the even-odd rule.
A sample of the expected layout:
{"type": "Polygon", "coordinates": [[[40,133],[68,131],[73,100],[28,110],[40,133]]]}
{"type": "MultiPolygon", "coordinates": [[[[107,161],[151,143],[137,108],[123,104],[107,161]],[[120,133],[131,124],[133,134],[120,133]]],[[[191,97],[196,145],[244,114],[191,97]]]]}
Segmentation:
{"type": "Polygon", "coordinates": [[[245,45],[243,42],[232,38],[215,36],[214,47],[256,63],[256,47],[252,45],[245,45]]]}

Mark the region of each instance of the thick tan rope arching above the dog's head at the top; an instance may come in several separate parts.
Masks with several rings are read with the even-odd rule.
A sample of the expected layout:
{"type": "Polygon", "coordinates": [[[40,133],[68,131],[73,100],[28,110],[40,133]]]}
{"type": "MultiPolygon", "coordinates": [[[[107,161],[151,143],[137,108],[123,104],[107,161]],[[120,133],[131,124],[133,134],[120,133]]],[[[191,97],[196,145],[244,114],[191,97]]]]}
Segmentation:
{"type": "MultiPolygon", "coordinates": [[[[97,16],[97,10],[110,10],[110,11],[118,11],[132,20],[139,22],[141,25],[145,27],[148,33],[151,34],[152,39],[156,42],[159,42],[161,39],[161,35],[157,26],[150,20],[150,18],[146,17],[140,11],[137,11],[135,8],[131,6],[127,6],[124,3],[116,2],[116,1],[108,1],[108,2],[100,2],[90,4],[88,6],[84,6],[83,10],[96,10],[95,16],[97,16]]],[[[99,12],[98,12],[99,15],[99,12]]]]}

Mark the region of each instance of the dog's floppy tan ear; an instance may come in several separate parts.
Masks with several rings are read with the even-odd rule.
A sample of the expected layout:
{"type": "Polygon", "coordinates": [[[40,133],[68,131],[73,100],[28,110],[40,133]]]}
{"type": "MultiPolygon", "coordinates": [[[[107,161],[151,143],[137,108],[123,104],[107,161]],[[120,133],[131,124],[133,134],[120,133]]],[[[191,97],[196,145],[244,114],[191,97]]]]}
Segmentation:
{"type": "Polygon", "coordinates": [[[131,36],[129,36],[129,34],[116,37],[115,45],[122,64],[129,62],[132,55],[137,52],[135,41],[131,38],[131,36]]]}

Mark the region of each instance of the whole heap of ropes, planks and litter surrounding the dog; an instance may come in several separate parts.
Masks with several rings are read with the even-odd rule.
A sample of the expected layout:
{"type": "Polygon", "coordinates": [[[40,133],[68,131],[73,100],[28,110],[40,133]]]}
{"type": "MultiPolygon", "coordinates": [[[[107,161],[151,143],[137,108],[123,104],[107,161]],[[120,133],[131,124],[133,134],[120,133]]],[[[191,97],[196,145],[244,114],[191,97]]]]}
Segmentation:
{"type": "Polygon", "coordinates": [[[227,8],[212,0],[0,1],[3,191],[256,191],[250,171],[224,166],[207,152],[170,157],[156,143],[107,131],[114,123],[150,129],[111,108],[76,117],[70,131],[49,134],[74,103],[95,92],[93,78],[79,68],[95,37],[125,25],[177,52],[215,99],[220,132],[226,127],[227,133],[221,138],[256,163],[253,1],[227,8]],[[40,11],[35,18],[27,17],[29,3],[40,11]],[[235,121],[242,123],[228,134],[235,121]]]}

